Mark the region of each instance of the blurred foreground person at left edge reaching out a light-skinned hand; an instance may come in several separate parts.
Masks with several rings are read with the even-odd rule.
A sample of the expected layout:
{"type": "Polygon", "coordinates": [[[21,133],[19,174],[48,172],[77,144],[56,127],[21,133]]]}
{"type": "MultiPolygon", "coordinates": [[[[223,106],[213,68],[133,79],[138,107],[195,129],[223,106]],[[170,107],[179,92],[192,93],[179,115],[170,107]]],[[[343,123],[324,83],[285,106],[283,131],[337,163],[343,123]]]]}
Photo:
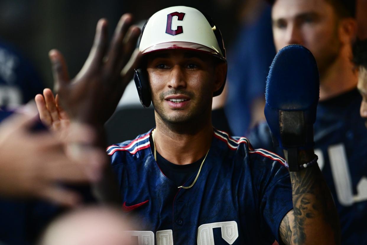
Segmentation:
{"type": "Polygon", "coordinates": [[[29,108],[0,110],[0,243],[9,245],[33,244],[63,207],[83,202],[69,185],[95,183],[106,163],[103,149],[88,146],[92,129],[72,123],[61,140],[29,108]]]}

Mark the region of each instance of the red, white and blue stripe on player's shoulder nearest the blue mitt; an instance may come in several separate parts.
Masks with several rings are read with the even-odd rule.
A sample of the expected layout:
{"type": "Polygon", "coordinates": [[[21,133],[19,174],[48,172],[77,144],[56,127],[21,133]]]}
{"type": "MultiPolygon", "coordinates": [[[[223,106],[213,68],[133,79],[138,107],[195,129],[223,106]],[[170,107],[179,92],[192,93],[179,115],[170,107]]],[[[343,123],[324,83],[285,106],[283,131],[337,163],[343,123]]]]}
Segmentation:
{"type": "Polygon", "coordinates": [[[229,136],[228,133],[226,133],[224,131],[217,130],[217,129],[214,129],[214,136],[217,137],[219,140],[224,141],[227,144],[228,148],[231,149],[231,150],[236,150],[240,146],[240,144],[246,144],[247,148],[248,148],[248,152],[250,154],[259,154],[259,155],[265,156],[265,157],[270,158],[272,160],[278,161],[282,165],[288,167],[288,163],[283,158],[281,158],[279,155],[277,155],[273,152],[267,151],[265,149],[254,149],[254,148],[252,148],[252,145],[250,144],[250,141],[248,141],[248,139],[245,138],[245,137],[234,137],[234,138],[232,138],[232,137],[229,136]]]}

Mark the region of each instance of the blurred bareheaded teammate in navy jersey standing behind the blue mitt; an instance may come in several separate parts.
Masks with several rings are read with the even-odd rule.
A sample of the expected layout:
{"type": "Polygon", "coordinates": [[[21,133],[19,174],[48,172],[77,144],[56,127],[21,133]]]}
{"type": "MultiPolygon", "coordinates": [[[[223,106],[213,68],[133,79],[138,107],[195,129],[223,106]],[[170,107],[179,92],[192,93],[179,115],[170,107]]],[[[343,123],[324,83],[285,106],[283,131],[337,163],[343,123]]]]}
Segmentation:
{"type": "MultiPolygon", "coordinates": [[[[367,244],[367,131],[359,116],[361,96],[352,58],[355,1],[276,0],[272,6],[277,50],[301,44],[316,58],[320,102],[314,125],[315,154],[336,203],[342,244],[367,244]]],[[[295,81],[296,82],[296,81],[295,81]]],[[[249,135],[251,144],[273,148],[267,124],[249,135]]]]}

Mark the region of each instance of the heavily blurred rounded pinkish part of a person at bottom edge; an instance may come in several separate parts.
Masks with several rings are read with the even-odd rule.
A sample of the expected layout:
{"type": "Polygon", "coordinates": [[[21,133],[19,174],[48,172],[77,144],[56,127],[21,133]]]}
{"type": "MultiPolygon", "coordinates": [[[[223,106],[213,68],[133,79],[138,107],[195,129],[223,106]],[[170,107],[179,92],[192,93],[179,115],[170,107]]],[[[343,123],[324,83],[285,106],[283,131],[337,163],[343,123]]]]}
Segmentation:
{"type": "Polygon", "coordinates": [[[86,206],[74,209],[47,227],[39,245],[138,245],[138,239],[125,231],[130,221],[120,209],[108,206],[86,206]]]}

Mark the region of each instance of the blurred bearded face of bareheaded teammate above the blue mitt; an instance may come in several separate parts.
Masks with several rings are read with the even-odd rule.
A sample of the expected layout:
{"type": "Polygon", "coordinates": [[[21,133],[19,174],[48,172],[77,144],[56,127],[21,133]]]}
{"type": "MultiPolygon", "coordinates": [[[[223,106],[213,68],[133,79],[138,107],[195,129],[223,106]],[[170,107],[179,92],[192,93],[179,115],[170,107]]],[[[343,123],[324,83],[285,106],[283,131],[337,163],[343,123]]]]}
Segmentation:
{"type": "Polygon", "coordinates": [[[337,17],[326,0],[276,0],[272,22],[277,51],[290,44],[305,46],[321,75],[339,54],[337,17]]]}

